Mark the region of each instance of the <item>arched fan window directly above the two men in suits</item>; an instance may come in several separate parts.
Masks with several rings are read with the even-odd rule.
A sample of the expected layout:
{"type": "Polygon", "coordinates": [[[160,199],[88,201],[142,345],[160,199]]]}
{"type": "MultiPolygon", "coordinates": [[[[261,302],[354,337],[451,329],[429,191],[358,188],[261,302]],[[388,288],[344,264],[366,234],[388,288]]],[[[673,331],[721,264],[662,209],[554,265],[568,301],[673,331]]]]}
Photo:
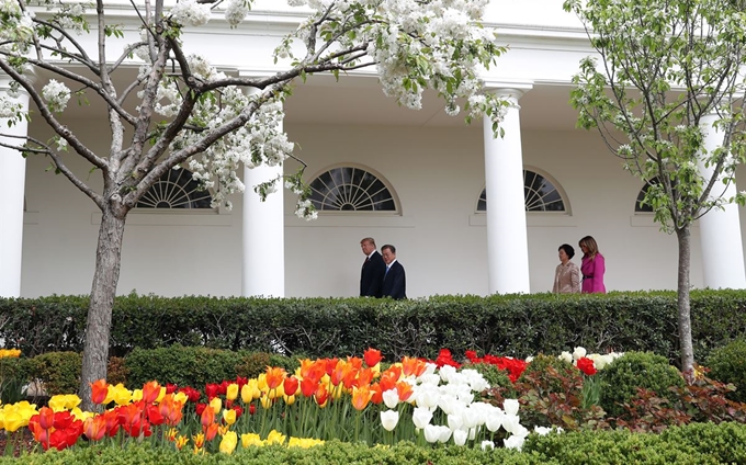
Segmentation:
{"type": "Polygon", "coordinates": [[[310,202],[319,212],[398,212],[393,190],[362,168],[332,168],[309,186],[310,202]]]}

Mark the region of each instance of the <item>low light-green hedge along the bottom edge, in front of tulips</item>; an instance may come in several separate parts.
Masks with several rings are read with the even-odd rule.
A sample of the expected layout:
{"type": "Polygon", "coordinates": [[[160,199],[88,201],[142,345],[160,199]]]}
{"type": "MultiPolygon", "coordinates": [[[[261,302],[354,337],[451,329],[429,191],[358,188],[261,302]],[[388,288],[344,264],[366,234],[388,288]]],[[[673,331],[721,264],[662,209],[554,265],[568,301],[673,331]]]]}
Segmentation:
{"type": "Polygon", "coordinates": [[[669,428],[660,434],[628,431],[531,434],[523,452],[455,445],[418,447],[399,443],[392,447],[369,447],[337,441],[298,449],[284,446],[250,447],[234,455],[194,455],[148,444],[131,445],[124,451],[113,446],[81,447],[75,451],[49,451],[21,457],[0,457],[0,465],[118,464],[118,465],[212,465],[212,464],[721,464],[746,463],[746,426],[734,423],[696,423],[669,428]]]}

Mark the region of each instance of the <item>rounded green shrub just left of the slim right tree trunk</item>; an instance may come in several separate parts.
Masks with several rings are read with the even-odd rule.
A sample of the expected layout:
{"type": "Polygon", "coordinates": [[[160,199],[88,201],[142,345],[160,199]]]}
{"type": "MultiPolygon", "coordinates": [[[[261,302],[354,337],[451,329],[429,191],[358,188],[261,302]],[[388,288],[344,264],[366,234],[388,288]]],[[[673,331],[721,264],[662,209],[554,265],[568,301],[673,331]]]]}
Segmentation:
{"type": "Polygon", "coordinates": [[[601,379],[600,405],[611,417],[625,412],[623,404],[637,396],[644,388],[659,397],[676,401],[671,386],[683,387],[681,373],[664,356],[652,352],[626,352],[599,372],[601,379]]]}

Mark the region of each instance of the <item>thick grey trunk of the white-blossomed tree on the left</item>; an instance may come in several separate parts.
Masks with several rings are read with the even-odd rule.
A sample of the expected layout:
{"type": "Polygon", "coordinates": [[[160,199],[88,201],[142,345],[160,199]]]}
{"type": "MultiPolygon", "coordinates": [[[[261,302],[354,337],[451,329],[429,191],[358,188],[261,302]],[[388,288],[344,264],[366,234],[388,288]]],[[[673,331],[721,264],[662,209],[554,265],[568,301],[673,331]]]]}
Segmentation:
{"type": "Polygon", "coordinates": [[[101,216],[80,377],[79,395],[82,399],[80,408],[83,411],[93,411],[95,407],[91,401],[91,383],[106,377],[112,307],[116,283],[120,280],[122,238],[124,237],[125,216],[121,216],[117,217],[110,205],[106,205],[101,216]]]}

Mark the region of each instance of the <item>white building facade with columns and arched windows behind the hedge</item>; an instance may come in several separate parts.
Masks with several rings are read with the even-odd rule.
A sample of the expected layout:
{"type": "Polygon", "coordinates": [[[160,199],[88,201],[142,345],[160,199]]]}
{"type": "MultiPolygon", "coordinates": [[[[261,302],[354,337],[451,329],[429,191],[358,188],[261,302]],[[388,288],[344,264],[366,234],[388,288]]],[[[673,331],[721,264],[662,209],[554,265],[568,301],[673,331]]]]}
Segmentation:
{"type": "MultiPolygon", "coordinates": [[[[236,76],[276,71],[272,50],[303,18],[279,3],[256,2],[236,30],[216,19],[189,31],[184,48],[236,76]]],[[[136,32],[126,5],[111,14],[136,32]]],[[[118,293],[354,296],[359,242],[368,236],[378,247],[396,246],[410,297],[550,291],[557,248],[576,247],[579,263],[577,242],[586,235],[606,257],[608,290],[676,288],[677,240],[638,211],[643,182],[597,133],[575,128],[570,78],[591,53],[580,24],[555,0],[493,1],[485,24],[509,46],[484,76],[489,91],[513,103],[504,138],[488,124],[445,115],[432,94],[421,111],[399,107],[365,72],[339,82],[312,77],[287,99],[284,129],[308,166],[306,181],[320,189],[319,205],[334,209],[305,222],[293,214],[291,193],[261,203],[251,189],[233,199],[233,211],[168,208],[154,197],[127,216],[118,293]],[[364,199],[386,206],[365,209],[364,199]]],[[[41,88],[48,77],[36,80],[41,88]]],[[[71,109],[65,123],[106,154],[101,110],[71,109]]],[[[38,117],[13,131],[52,137],[38,117]]],[[[716,144],[717,135],[709,140],[716,144]]],[[[82,159],[70,155],[68,162],[101,185],[82,159]]],[[[101,215],[48,165],[0,148],[0,296],[90,291],[101,215]]],[[[294,172],[297,163],[284,169],[294,172]]],[[[270,175],[245,170],[244,179],[253,185],[270,175]]],[[[163,186],[187,185],[180,182],[163,186]]],[[[693,228],[694,287],[746,286],[745,216],[730,206],[693,228]]]]}

